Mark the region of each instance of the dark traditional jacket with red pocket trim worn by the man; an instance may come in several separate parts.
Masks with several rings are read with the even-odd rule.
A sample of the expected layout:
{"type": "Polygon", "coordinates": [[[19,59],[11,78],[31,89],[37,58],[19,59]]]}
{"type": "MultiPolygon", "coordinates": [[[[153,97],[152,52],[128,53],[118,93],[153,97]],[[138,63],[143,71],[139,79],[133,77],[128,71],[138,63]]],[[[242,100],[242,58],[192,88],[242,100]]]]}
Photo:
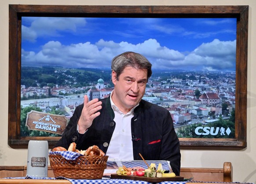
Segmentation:
{"type": "MultiPolygon", "coordinates": [[[[100,115],[93,120],[87,132],[84,134],[77,132],[77,121],[84,106],[79,105],[55,147],[62,146],[67,149],[70,143],[75,142],[78,150],[86,150],[89,146],[97,145],[106,153],[116,122],[113,121],[114,112],[110,97],[100,101],[102,101],[100,115]]],[[[141,160],[139,153],[145,160],[168,160],[173,172],[179,176],[181,158],[179,139],[168,110],[141,100],[134,109],[131,129],[135,160],[141,160]]]]}

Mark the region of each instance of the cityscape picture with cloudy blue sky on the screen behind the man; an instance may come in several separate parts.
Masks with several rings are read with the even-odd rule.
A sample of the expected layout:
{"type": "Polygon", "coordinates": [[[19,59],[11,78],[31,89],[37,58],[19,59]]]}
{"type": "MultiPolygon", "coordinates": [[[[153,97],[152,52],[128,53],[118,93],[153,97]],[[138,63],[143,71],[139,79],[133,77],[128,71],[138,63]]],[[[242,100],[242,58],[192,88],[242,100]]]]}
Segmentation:
{"type": "Polygon", "coordinates": [[[28,113],[69,119],[84,95],[108,97],[126,51],[152,63],[143,100],[168,109],[178,137],[234,138],[235,18],[22,17],[21,136],[61,136],[45,119],[29,130],[28,113]]]}

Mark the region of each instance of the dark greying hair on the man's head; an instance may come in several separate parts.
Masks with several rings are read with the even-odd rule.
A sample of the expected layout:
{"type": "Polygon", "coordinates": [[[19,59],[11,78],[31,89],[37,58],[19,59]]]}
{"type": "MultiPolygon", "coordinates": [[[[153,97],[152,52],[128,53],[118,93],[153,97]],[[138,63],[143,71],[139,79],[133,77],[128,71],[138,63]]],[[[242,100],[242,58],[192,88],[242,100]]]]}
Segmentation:
{"type": "Polygon", "coordinates": [[[119,80],[119,76],[124,71],[124,68],[128,66],[131,66],[135,69],[146,69],[147,80],[152,75],[152,64],[143,55],[135,52],[124,52],[114,57],[112,60],[111,70],[116,72],[117,80],[119,80]]]}

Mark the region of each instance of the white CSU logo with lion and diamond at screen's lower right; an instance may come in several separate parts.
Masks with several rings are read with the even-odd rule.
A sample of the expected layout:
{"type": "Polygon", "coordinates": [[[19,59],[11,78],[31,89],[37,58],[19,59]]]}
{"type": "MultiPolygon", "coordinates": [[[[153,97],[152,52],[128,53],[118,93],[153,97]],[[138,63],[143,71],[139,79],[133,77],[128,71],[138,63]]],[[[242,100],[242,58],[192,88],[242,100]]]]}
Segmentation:
{"type": "Polygon", "coordinates": [[[195,129],[195,133],[197,135],[217,135],[218,133],[220,133],[220,135],[225,135],[225,133],[227,133],[227,135],[229,135],[231,132],[230,128],[227,127],[227,130],[223,127],[208,127],[208,126],[197,126],[195,129]]]}

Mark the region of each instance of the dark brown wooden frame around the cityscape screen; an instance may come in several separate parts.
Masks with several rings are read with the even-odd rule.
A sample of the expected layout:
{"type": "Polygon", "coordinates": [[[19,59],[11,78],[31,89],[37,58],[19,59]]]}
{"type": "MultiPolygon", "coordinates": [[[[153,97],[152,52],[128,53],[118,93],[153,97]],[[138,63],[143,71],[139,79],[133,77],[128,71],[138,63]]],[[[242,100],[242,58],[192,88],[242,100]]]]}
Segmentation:
{"type": "Polygon", "coordinates": [[[29,140],[47,140],[54,145],[60,137],[21,137],[21,17],[159,17],[237,18],[235,137],[233,139],[179,138],[181,148],[246,147],[247,50],[249,6],[87,6],[9,5],[9,107],[8,144],[27,145],[29,140]]]}

